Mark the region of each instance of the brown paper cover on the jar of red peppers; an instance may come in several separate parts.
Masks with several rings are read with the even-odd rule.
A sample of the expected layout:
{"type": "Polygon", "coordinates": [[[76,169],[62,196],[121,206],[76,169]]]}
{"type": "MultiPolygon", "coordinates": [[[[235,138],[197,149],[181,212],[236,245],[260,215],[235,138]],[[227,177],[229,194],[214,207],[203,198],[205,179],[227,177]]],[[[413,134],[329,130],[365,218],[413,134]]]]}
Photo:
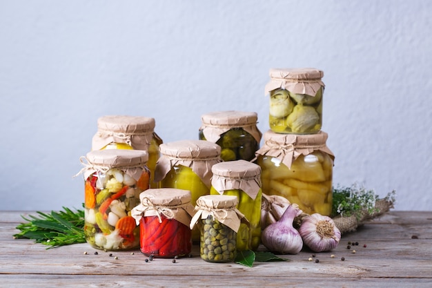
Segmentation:
{"type": "Polygon", "coordinates": [[[148,189],[139,194],[140,204],[132,209],[131,215],[137,224],[142,217],[164,215],[181,224],[190,225],[195,207],[190,203],[190,191],[174,188],[148,189]]]}

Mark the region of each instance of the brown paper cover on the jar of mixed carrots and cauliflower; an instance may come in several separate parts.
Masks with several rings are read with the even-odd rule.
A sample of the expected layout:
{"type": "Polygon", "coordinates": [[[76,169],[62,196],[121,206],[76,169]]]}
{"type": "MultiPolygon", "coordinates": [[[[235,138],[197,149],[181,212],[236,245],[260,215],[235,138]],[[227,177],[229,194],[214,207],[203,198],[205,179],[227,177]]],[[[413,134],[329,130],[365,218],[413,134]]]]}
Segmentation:
{"type": "Polygon", "coordinates": [[[106,173],[109,169],[120,169],[135,180],[147,169],[148,153],[141,150],[96,150],[87,153],[80,158],[84,168],[79,173],[84,173],[87,179],[92,173],[106,173]]]}

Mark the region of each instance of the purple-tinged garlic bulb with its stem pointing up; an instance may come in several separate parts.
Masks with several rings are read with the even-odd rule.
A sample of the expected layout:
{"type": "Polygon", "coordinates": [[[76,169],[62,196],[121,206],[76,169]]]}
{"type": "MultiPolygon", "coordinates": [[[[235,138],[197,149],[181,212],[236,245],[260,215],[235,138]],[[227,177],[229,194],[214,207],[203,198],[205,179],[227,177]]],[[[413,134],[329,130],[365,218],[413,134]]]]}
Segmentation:
{"type": "Polygon", "coordinates": [[[303,240],[300,233],[293,227],[293,220],[300,213],[302,210],[297,204],[289,205],[279,221],[268,225],[262,231],[262,244],[274,253],[299,253],[303,248],[303,240]]]}

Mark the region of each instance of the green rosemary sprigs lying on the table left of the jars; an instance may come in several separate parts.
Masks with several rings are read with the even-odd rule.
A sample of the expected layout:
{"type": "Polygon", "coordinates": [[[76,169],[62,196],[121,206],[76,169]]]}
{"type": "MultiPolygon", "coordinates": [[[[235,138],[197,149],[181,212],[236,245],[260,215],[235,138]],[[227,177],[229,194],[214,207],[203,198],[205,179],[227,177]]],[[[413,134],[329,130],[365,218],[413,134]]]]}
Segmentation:
{"type": "Polygon", "coordinates": [[[21,216],[27,222],[17,226],[19,233],[14,238],[28,238],[36,243],[48,245],[47,249],[68,244],[84,243],[84,210],[63,207],[62,211],[42,213],[37,211],[37,216],[21,216]]]}

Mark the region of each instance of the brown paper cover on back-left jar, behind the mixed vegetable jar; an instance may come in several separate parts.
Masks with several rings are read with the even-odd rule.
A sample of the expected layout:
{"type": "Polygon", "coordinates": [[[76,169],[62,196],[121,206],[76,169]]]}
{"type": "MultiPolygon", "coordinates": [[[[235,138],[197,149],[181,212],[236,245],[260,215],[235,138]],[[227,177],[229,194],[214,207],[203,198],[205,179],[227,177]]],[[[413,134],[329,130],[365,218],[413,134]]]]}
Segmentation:
{"type": "Polygon", "coordinates": [[[92,150],[100,150],[111,143],[125,143],[135,150],[148,150],[153,137],[162,142],[155,133],[154,118],[107,115],[97,119],[97,133],[92,137],[92,150]]]}

